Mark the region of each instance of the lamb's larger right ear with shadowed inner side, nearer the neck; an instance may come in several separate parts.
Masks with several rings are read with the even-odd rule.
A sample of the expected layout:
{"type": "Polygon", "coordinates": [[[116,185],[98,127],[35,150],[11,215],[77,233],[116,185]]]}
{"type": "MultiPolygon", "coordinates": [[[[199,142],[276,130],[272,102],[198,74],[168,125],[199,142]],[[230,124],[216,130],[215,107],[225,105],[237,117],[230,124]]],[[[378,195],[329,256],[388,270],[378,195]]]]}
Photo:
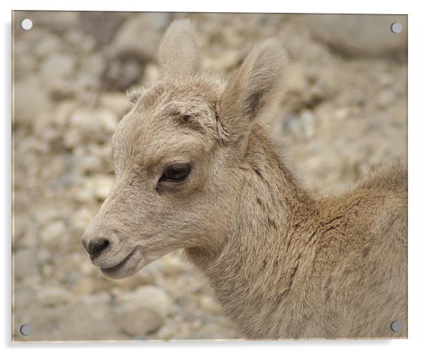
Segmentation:
{"type": "Polygon", "coordinates": [[[273,38],[253,47],[218,103],[219,115],[228,134],[239,138],[249,135],[252,122],[273,103],[279,102],[287,61],[287,52],[273,38]]]}

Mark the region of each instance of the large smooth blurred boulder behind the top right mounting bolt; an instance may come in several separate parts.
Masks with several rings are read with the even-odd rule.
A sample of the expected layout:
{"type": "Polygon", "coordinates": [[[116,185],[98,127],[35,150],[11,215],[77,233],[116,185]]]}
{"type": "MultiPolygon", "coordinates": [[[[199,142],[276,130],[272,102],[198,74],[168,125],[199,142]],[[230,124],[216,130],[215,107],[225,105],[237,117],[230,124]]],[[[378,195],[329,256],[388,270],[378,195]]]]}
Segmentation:
{"type": "Polygon", "coordinates": [[[314,37],[351,57],[406,55],[407,16],[306,15],[302,18],[314,37]],[[402,23],[402,33],[391,32],[394,22],[402,23]]]}

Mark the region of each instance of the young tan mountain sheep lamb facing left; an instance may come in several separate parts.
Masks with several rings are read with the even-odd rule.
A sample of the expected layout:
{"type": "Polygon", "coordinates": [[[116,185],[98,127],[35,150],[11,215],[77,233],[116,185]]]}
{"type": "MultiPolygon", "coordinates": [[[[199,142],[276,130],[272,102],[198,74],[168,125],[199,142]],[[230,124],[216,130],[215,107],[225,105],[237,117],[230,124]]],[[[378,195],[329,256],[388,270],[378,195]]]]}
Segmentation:
{"type": "Polygon", "coordinates": [[[313,196],[258,119],[282,93],[277,40],[228,81],[201,69],[188,20],[159,56],[162,81],[112,138],[116,182],[82,240],[93,264],[125,278],[184,248],[249,338],[407,337],[405,165],[313,196]]]}

